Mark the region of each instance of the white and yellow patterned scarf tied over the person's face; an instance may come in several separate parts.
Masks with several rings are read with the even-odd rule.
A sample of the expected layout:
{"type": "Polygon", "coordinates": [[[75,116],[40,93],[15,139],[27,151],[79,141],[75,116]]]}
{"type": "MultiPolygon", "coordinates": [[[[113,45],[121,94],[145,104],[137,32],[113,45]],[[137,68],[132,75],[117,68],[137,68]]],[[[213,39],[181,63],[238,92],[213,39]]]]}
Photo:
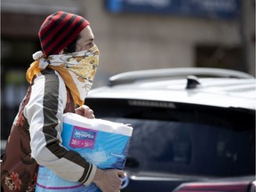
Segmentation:
{"type": "Polygon", "coordinates": [[[100,52],[96,45],[90,50],[44,57],[43,52],[33,54],[34,61],[27,71],[27,80],[31,84],[33,77],[44,68],[56,70],[76,104],[84,105],[84,99],[92,88],[92,82],[99,64],[100,52]]]}

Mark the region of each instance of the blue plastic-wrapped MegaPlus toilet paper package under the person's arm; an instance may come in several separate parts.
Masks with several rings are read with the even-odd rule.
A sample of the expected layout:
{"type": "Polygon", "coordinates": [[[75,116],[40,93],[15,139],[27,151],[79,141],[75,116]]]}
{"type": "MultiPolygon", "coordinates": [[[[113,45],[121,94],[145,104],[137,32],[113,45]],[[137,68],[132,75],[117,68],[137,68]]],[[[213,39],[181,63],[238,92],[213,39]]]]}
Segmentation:
{"type": "MultiPolygon", "coordinates": [[[[74,113],[63,117],[62,145],[100,169],[124,170],[132,127],[103,119],[88,119],[74,113]]],[[[93,183],[84,186],[63,180],[44,166],[39,167],[36,192],[100,192],[93,183]]]]}

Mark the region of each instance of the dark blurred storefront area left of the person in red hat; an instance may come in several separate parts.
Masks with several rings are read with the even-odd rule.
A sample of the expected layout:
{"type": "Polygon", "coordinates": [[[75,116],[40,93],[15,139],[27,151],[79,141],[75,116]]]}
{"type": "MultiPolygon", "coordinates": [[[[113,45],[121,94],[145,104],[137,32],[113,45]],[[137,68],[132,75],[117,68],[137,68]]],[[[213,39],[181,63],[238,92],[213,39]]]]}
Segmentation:
{"type": "Polygon", "coordinates": [[[7,138],[20,101],[27,92],[26,70],[40,50],[38,29],[45,17],[63,10],[82,14],[79,1],[2,0],[1,139],[7,138]]]}

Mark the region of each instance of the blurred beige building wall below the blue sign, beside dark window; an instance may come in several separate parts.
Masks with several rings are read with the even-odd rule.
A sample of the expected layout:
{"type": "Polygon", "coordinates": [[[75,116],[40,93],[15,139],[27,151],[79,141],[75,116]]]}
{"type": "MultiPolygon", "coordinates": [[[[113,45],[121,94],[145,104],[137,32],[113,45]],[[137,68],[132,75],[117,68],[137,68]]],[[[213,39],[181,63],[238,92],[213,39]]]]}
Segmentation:
{"type": "Polygon", "coordinates": [[[210,20],[171,15],[112,14],[103,0],[84,0],[100,48],[100,70],[108,74],[195,66],[197,44],[240,44],[237,20],[210,20]]]}

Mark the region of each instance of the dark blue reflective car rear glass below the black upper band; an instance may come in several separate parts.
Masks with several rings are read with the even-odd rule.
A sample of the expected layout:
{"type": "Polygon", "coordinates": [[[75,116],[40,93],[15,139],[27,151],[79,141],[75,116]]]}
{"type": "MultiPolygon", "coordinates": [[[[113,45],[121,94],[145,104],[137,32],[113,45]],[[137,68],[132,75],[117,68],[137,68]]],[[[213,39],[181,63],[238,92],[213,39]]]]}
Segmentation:
{"type": "Polygon", "coordinates": [[[248,129],[124,118],[117,122],[132,124],[129,157],[138,161],[140,171],[204,176],[253,173],[253,132],[248,129]]]}

